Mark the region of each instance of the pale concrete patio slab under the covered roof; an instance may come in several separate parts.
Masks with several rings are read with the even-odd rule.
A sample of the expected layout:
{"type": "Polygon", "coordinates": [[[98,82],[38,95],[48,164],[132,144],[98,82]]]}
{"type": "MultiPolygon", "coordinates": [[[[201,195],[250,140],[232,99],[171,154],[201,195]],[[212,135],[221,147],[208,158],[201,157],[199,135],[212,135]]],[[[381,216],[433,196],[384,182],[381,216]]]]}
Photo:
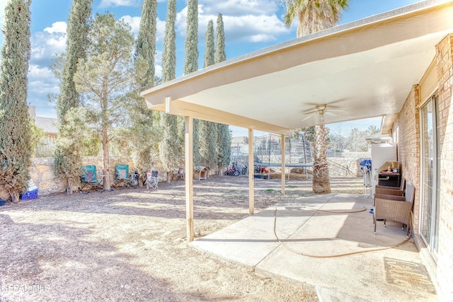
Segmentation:
{"type": "Polygon", "coordinates": [[[437,301],[406,229],[378,221],[374,235],[371,208],[372,199],[355,194],[282,199],[191,246],[259,274],[316,286],[320,301],[437,301]],[[344,255],[350,252],[357,253],[344,255]]]}

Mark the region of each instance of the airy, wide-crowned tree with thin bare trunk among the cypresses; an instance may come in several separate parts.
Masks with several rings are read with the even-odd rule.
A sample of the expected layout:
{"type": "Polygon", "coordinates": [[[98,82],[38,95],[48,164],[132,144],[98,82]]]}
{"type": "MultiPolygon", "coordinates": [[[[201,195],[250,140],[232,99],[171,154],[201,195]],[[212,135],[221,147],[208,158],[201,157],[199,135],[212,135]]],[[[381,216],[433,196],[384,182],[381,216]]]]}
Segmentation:
{"type": "Polygon", "coordinates": [[[91,45],[74,74],[82,105],[90,117],[90,127],[96,129],[103,152],[104,188],[110,190],[110,151],[118,124],[125,123],[125,108],[134,102],[137,91],[137,65],[132,58],[134,35],[130,25],[115,20],[112,13],[96,15],[89,32],[91,45]],[[96,85],[93,85],[96,83],[96,85]]]}

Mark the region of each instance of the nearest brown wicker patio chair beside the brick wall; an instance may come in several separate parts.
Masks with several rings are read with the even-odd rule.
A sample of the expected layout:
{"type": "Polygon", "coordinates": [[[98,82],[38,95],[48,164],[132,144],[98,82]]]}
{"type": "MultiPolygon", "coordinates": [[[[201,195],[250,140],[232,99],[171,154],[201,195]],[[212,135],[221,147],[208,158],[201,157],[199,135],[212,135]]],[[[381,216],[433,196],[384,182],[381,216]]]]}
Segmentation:
{"type": "Polygon", "coordinates": [[[406,224],[406,237],[409,236],[409,228],[411,227],[411,211],[415,199],[415,187],[406,185],[406,196],[374,194],[374,235],[376,235],[377,220],[397,221],[406,224]]]}

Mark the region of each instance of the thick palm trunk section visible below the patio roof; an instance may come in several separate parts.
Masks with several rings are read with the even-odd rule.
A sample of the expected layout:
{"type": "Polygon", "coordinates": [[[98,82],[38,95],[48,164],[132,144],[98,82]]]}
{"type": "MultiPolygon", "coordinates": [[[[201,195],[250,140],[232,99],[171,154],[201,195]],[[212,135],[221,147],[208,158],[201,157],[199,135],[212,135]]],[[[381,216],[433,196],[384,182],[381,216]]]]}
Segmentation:
{"type": "Polygon", "coordinates": [[[331,180],[328,175],[327,137],[328,130],[323,124],[315,127],[314,161],[313,161],[313,192],[328,194],[331,192],[331,180]]]}

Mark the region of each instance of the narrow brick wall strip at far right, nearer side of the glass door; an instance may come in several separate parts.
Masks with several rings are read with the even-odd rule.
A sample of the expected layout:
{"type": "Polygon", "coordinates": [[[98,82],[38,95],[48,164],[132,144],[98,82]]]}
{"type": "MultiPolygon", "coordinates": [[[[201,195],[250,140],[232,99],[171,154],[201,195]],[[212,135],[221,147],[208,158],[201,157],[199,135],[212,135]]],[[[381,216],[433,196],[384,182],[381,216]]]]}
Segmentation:
{"type": "Polygon", "coordinates": [[[436,51],[441,153],[437,280],[440,301],[453,301],[453,34],[436,51]]]}

